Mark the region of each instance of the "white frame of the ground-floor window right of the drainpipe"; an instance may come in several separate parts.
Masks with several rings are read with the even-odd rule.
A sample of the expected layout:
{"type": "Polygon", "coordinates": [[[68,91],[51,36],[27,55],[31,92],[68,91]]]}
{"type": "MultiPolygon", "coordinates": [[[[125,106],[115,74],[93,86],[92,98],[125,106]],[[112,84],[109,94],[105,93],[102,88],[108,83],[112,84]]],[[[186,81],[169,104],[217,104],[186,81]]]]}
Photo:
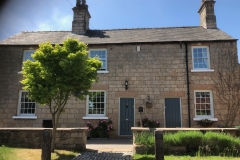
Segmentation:
{"type": "Polygon", "coordinates": [[[217,118],[214,118],[214,104],[213,104],[213,94],[211,90],[195,90],[194,91],[194,112],[195,112],[195,118],[193,120],[200,121],[202,119],[209,119],[212,121],[217,121],[217,118]],[[211,115],[197,115],[197,107],[196,107],[196,92],[209,92],[210,94],[210,112],[211,115]]]}

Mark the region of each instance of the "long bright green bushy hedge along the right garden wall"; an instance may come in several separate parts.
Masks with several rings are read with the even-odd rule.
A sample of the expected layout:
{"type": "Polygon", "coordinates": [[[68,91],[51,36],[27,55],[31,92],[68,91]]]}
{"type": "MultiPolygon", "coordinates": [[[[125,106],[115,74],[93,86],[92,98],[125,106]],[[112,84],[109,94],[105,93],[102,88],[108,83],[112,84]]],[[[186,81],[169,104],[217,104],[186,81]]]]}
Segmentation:
{"type": "MultiPolygon", "coordinates": [[[[180,131],[165,133],[164,147],[186,146],[191,153],[198,151],[198,155],[239,156],[240,139],[226,133],[200,131],[180,131]]],[[[155,145],[154,132],[145,131],[135,135],[137,145],[145,145],[153,150],[155,145]]]]}

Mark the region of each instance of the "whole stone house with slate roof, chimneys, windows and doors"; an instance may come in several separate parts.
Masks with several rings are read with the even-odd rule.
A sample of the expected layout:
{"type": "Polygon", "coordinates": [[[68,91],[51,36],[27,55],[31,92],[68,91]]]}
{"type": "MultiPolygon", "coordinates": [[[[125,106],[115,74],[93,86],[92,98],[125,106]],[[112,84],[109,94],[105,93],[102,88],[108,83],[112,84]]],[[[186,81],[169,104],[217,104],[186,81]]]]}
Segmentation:
{"type": "Polygon", "coordinates": [[[213,46],[236,39],[217,28],[214,3],[202,1],[201,26],[118,30],[90,30],[91,16],[83,3],[73,8],[72,31],[21,32],[1,41],[0,127],[51,123],[48,107],[29,100],[22,90],[21,67],[39,43],[62,44],[68,37],[87,43],[89,56],[100,57],[103,66],[86,101],[68,101],[60,128],[112,119],[112,137],[131,135],[140,106],[143,117],[159,121],[160,127],[200,127],[198,121],[205,118],[221,124],[221,104],[208,80],[217,54],[213,46]]]}

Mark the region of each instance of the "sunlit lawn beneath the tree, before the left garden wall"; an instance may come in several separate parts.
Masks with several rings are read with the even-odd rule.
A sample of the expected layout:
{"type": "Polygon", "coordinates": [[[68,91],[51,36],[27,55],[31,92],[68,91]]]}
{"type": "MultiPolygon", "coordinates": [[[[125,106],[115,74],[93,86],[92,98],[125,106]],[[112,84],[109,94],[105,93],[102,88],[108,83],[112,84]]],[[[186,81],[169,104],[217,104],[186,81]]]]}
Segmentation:
{"type": "MultiPolygon", "coordinates": [[[[41,160],[41,149],[10,148],[0,146],[0,160],[41,160]]],[[[70,160],[78,155],[78,152],[67,150],[55,150],[51,154],[51,160],[70,160]]]]}

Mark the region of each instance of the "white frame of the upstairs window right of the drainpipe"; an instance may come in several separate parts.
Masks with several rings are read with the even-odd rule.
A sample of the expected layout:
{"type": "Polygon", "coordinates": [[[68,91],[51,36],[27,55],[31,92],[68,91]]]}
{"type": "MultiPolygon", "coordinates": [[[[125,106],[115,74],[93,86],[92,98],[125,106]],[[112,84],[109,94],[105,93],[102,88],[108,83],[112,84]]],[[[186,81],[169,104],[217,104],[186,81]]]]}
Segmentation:
{"type": "Polygon", "coordinates": [[[214,72],[213,69],[211,69],[210,65],[210,54],[209,54],[209,47],[208,46],[192,46],[192,70],[191,72],[214,72]],[[194,68],[194,49],[198,48],[205,48],[207,49],[207,68],[194,68]]]}

